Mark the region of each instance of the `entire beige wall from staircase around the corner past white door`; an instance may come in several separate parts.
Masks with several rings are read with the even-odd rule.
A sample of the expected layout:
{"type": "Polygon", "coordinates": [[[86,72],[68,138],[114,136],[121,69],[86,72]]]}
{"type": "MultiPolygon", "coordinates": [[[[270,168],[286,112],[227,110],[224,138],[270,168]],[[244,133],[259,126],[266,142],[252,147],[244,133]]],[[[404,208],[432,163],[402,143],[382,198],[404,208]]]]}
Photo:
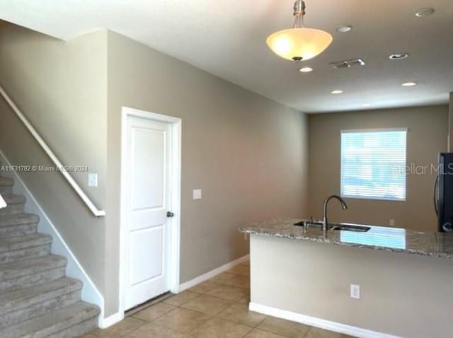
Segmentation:
{"type": "MultiPolygon", "coordinates": [[[[306,115],[205,71],[100,31],[68,42],[16,25],[0,32],[0,84],[106,218],[93,218],[57,173],[23,173],[38,202],[117,311],[122,106],[183,119],[181,283],[248,253],[244,223],[306,214],[306,115]],[[203,199],[193,201],[192,190],[203,199]]],[[[0,149],[13,164],[51,165],[0,100],[0,149]]]]}

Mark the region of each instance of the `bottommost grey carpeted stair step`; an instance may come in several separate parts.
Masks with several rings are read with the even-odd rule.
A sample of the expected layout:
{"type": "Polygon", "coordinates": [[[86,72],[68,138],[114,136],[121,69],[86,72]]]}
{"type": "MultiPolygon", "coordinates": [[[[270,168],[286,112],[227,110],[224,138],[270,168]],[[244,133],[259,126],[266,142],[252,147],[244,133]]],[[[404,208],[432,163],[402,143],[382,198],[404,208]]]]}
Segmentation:
{"type": "Polygon", "coordinates": [[[84,302],[7,327],[1,338],[79,337],[97,327],[99,308],[84,302]]]}

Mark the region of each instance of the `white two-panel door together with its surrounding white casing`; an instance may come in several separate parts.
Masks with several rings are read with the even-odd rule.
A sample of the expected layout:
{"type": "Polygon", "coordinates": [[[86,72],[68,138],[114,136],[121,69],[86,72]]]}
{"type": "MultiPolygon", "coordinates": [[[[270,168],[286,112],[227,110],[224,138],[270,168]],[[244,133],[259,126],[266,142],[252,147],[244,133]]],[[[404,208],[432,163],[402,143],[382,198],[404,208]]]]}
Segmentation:
{"type": "Polygon", "coordinates": [[[180,120],[123,107],[120,316],[178,292],[180,120]],[[168,121],[169,120],[169,121],[168,121]],[[173,211],[174,218],[167,212],[173,211]]]}

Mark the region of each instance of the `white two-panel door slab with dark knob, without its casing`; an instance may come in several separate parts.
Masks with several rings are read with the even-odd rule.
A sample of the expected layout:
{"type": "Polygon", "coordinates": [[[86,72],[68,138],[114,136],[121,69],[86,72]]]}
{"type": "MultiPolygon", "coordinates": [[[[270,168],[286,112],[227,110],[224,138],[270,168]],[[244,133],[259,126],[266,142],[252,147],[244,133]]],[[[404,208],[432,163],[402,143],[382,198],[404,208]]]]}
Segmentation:
{"type": "Polygon", "coordinates": [[[171,124],[127,117],[125,310],[170,289],[171,124]]]}

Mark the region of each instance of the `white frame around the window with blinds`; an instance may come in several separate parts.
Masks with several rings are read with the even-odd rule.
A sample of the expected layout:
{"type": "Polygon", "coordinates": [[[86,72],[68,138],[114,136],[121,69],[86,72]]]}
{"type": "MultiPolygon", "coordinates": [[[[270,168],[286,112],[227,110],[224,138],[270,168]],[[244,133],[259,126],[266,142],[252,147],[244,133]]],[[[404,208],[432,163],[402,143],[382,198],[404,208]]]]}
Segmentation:
{"type": "Polygon", "coordinates": [[[404,199],[396,199],[389,197],[376,197],[376,196],[351,196],[348,194],[343,194],[343,144],[342,144],[342,134],[352,134],[352,133],[366,133],[366,132],[406,132],[406,163],[407,165],[407,134],[409,129],[406,127],[402,128],[370,128],[370,129],[342,129],[340,130],[340,196],[348,199],[372,199],[376,201],[389,201],[389,202],[406,202],[407,199],[407,177],[405,175],[405,192],[404,199]]]}

